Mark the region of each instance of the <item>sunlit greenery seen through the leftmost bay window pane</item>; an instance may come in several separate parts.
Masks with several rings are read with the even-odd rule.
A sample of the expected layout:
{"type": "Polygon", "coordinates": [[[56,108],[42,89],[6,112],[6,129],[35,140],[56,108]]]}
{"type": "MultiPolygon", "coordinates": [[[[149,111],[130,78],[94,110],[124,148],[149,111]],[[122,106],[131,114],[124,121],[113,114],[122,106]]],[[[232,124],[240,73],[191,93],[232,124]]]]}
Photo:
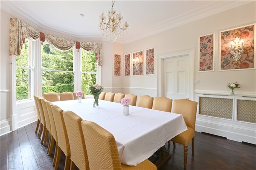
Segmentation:
{"type": "Polygon", "coordinates": [[[31,98],[32,59],[26,39],[19,56],[16,56],[16,100],[31,98]]]}

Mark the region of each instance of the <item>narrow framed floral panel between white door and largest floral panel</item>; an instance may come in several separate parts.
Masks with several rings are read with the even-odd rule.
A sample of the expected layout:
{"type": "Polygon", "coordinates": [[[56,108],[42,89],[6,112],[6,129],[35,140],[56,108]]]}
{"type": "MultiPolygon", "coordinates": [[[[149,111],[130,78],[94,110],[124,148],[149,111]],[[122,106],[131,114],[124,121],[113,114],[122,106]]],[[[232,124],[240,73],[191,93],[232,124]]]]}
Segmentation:
{"type": "Polygon", "coordinates": [[[199,72],[214,71],[214,34],[199,37],[199,72]]]}

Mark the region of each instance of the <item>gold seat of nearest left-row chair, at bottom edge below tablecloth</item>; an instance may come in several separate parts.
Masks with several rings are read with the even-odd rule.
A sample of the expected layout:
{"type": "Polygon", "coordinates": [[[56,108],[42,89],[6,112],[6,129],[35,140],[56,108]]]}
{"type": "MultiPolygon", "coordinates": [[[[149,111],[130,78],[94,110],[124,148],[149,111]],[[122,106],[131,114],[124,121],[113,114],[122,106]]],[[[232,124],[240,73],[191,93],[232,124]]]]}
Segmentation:
{"type": "Polygon", "coordinates": [[[157,167],[148,159],[137,164],[137,166],[128,166],[125,164],[121,164],[122,170],[157,170],[157,167]]]}

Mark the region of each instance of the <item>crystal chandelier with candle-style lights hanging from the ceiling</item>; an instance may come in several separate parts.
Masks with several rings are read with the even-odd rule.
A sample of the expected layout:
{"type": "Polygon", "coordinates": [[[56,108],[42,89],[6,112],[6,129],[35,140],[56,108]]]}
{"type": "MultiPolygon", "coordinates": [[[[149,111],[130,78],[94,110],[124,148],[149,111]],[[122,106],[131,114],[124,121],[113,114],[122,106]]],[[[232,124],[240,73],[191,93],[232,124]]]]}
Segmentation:
{"type": "Polygon", "coordinates": [[[128,28],[128,23],[125,21],[125,24],[122,24],[122,16],[121,14],[116,14],[116,11],[113,10],[115,0],[112,0],[112,9],[108,11],[108,21],[106,22],[104,13],[100,16],[99,29],[102,35],[112,42],[118,40],[124,30],[128,28]]]}

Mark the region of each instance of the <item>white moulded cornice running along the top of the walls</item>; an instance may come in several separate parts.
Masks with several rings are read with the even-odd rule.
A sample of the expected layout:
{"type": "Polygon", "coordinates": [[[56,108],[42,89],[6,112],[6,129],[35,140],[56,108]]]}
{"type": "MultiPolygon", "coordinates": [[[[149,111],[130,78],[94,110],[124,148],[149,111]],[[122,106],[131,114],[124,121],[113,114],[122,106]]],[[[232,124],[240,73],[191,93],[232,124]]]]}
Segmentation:
{"type": "MultiPolygon", "coordinates": [[[[13,16],[19,18],[20,20],[23,20],[24,22],[28,23],[29,25],[35,27],[36,29],[40,30],[41,32],[56,35],[60,37],[66,37],[72,40],[90,40],[90,41],[108,41],[105,39],[102,35],[75,35],[72,32],[64,32],[63,30],[52,28],[49,26],[46,26],[42,24],[40,21],[36,20],[32,15],[27,14],[25,10],[21,11],[15,8],[15,6],[11,6],[8,3],[8,1],[1,1],[0,8],[4,11],[8,12],[9,14],[12,14],[13,16]]],[[[168,29],[175,28],[177,26],[181,26],[186,23],[190,23],[195,20],[202,19],[204,17],[208,17],[213,14],[217,14],[219,12],[224,12],[226,10],[244,5],[246,3],[250,3],[253,1],[223,1],[218,4],[215,3],[209,3],[207,6],[203,6],[199,9],[194,9],[190,12],[186,12],[184,14],[181,14],[179,16],[173,17],[169,20],[166,20],[164,22],[158,23],[154,26],[151,26],[143,31],[135,32],[134,34],[128,34],[124,35],[124,37],[121,40],[118,40],[117,43],[126,44],[131,43],[135,40],[142,39],[144,37],[148,37],[150,35],[157,34],[159,32],[166,31],[168,29]]]]}

